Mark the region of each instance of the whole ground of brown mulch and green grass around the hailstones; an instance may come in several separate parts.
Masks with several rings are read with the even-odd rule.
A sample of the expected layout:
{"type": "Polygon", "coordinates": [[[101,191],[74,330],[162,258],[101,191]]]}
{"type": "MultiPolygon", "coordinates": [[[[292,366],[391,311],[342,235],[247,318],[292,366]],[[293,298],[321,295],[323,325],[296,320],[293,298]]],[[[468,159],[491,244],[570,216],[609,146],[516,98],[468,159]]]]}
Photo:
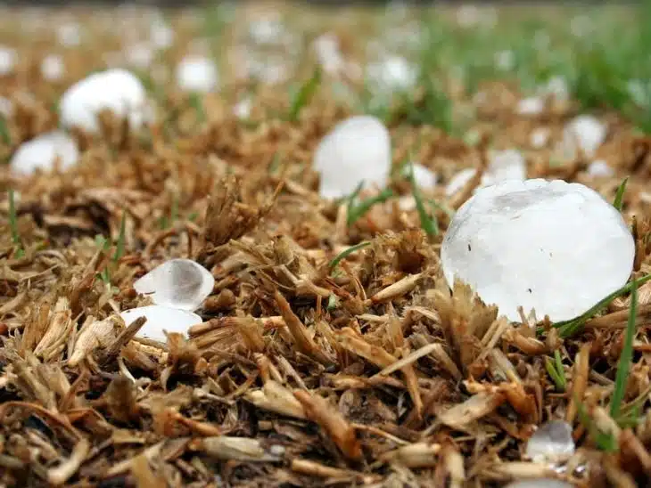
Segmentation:
{"type": "MultiPolygon", "coordinates": [[[[286,30],[263,46],[247,37],[260,9],[169,14],[174,45],[134,68],[155,123],[129,131],[105,118],[101,137],[78,134],[82,158],[66,172],[19,178],[0,168],[0,483],[500,486],[556,476],[523,460],[534,426],[552,418],[567,419],[578,446],[557,476],[649,483],[649,288],[639,289],[623,413],[613,419],[626,296],[562,337],[550,324],[496,320],[468,289],[450,293],[439,259],[450,213],[477,182],[451,197],[445,184],[482,167],[489,148],[518,148],[529,176],[585,183],[611,201],[630,176],[622,212],[638,243],[634,276],[649,272],[644,12],[510,8],[463,27],[451,9],[280,11],[286,30]],[[352,64],[317,82],[310,43],[327,31],[352,64]],[[172,68],[190,51],[218,59],[218,92],[177,90],[172,68]],[[405,93],[358,76],[385,51],[421,70],[405,93]],[[239,72],[250,58],[263,77],[280,74],[276,85],[239,72]],[[516,103],[555,75],[570,98],[517,116],[516,103]],[[246,99],[250,117],[238,118],[233,107],[246,99]],[[581,156],[555,159],[565,122],[586,112],[608,125],[594,159],[612,176],[588,175],[581,156]],[[396,167],[393,197],[367,212],[319,199],[310,167],[320,138],[358,113],[391,128],[396,167]],[[550,138],[534,149],[538,127],[550,138]],[[440,175],[423,221],[395,198],[411,194],[399,171],[409,158],[440,175]],[[179,256],[216,278],[189,340],[130,341],[132,329],[103,321],[147,303],[133,281],[179,256]]],[[[127,10],[0,19],[0,40],[19,53],[0,78],[13,105],[6,160],[57,126],[72,82],[128,63],[153,21],[127,10]],[[81,42],[61,45],[55,30],[71,22],[81,42]],[[54,82],[39,71],[47,53],[65,61],[54,82]]]]}

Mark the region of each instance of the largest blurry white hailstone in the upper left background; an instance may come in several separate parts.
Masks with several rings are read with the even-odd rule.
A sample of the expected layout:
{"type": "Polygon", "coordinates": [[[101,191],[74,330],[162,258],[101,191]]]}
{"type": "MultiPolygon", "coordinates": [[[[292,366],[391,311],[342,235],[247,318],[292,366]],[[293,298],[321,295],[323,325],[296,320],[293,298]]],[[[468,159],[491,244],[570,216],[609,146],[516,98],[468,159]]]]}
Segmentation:
{"type": "Polygon", "coordinates": [[[108,69],[78,81],[63,94],[60,104],[63,126],[91,133],[99,131],[97,116],[103,110],[128,118],[129,125],[137,128],[149,118],[149,109],[143,84],[125,69],[108,69]]]}

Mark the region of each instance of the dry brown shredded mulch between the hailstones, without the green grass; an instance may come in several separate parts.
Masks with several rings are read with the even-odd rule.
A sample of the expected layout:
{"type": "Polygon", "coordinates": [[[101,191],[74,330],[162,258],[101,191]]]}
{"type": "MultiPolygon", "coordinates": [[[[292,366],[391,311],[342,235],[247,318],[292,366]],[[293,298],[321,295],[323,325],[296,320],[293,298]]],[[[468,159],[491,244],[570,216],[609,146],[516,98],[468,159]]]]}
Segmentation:
{"type": "MultiPolygon", "coordinates": [[[[175,22],[181,46],[167,61],[193,31],[175,22]]],[[[4,157],[53,127],[57,94],[115,49],[114,38],[98,35],[66,51],[68,75],[53,86],[35,74],[45,43],[19,45],[18,72],[0,80],[0,94],[17,104],[4,157]]],[[[613,390],[625,300],[577,338],[510,324],[465,286],[447,288],[442,236],[428,238],[416,211],[389,201],[348,227],[346,207],[318,198],[312,151],[350,109],[324,89],[292,123],[273,117],[289,105],[284,87],[261,88],[245,124],[230,110],[245,86],[228,77],[226,85],[222,96],[206,97],[203,122],[171,85],[157,101],[161,122],[135,133],[107,118],[101,137],[78,134],[84,153],[68,172],[15,178],[0,168],[2,191],[20,194],[24,251],[11,240],[3,197],[0,483],[499,485],[556,476],[522,452],[533,426],[559,417],[581,446],[570,465],[584,468],[559,476],[593,487],[648,483],[651,286],[639,293],[626,394],[627,402],[642,399],[643,421],[622,429],[602,406],[613,390]],[[173,207],[177,219],[161,228],[173,207]],[[97,248],[94,237],[116,240],[122,216],[126,254],[113,263],[114,247],[97,248]],[[363,240],[370,246],[330,268],[363,240]],[[133,282],[171,257],[197,259],[216,279],[203,323],[188,339],[170,334],[166,345],[132,340],[142,323],[124,324],[117,313],[147,303],[133,282]],[[96,278],[107,266],[111,286],[96,278]],[[566,392],[545,370],[554,351],[564,359],[566,392]],[[596,449],[577,402],[615,436],[618,452],[596,449]]],[[[474,128],[497,146],[529,147],[533,126],[550,127],[555,139],[574,110],[516,118],[514,89],[486,90],[474,128]],[[511,102],[491,102],[501,92],[511,102]]],[[[617,168],[614,178],[590,178],[581,159],[554,167],[548,149],[526,150],[529,173],[587,183],[608,199],[632,175],[625,214],[636,216],[636,272],[646,273],[651,143],[604,117],[612,130],[597,157],[617,168]]],[[[484,144],[401,124],[400,110],[391,131],[395,163],[412,150],[443,183],[485,156],[484,144]]],[[[392,186],[409,194],[408,183],[392,186]]],[[[431,196],[444,201],[442,188],[431,196]]],[[[470,191],[446,203],[457,207],[470,191]]],[[[448,216],[437,216],[444,231],[448,216]]]]}

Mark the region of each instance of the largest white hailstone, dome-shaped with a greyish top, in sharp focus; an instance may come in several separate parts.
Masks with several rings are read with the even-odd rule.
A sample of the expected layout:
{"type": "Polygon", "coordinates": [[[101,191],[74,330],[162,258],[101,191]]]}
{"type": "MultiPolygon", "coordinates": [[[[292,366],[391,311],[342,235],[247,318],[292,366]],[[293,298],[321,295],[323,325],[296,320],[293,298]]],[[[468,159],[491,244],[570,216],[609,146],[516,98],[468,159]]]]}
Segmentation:
{"type": "Polygon", "coordinates": [[[622,216],[596,191],[541,179],[477,191],[441,247],[449,285],[465,281],[511,321],[518,306],[573,319],[626,283],[634,256],[622,216]]]}

